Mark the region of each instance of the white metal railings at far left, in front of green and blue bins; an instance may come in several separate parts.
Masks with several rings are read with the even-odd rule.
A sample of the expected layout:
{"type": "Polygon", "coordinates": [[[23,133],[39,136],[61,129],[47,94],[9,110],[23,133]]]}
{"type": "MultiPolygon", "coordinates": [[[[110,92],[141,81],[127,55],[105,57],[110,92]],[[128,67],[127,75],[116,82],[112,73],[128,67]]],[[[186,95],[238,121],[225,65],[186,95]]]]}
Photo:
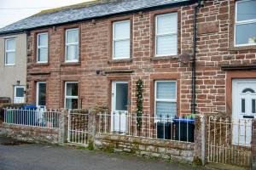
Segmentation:
{"type": "Polygon", "coordinates": [[[4,109],[3,123],[30,127],[59,127],[60,111],[57,110],[25,110],[20,108],[4,109]]]}

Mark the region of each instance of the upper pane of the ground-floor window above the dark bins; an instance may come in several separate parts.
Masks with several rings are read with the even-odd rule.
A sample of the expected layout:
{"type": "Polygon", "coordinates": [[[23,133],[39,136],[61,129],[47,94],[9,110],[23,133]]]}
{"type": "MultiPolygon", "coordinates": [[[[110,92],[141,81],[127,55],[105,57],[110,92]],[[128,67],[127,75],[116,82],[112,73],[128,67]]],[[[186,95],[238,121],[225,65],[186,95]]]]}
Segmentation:
{"type": "Polygon", "coordinates": [[[176,82],[157,82],[156,99],[176,99],[176,82]]]}

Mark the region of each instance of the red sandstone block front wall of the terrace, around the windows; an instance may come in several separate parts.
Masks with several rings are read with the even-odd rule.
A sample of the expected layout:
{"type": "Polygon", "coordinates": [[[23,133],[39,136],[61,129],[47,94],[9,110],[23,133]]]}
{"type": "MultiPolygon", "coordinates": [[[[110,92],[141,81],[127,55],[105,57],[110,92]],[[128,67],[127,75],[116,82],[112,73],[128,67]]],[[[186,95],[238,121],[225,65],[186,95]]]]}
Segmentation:
{"type": "MultiPolygon", "coordinates": [[[[198,37],[196,54],[196,103],[198,113],[229,113],[226,102],[226,75],[221,65],[243,65],[256,63],[255,47],[233,47],[234,0],[205,1],[198,14],[198,37]],[[208,27],[212,26],[211,29],[208,27]]],[[[136,111],[136,81],[144,82],[144,112],[153,113],[152,86],[154,75],[177,74],[180,96],[177,102],[179,114],[190,113],[191,67],[178,62],[178,56],[154,57],[154,15],[165,12],[178,14],[178,54],[192,54],[194,5],[168,8],[143,13],[130,14],[132,26],[131,59],[113,61],[111,59],[111,23],[120,17],[102,20],[86,20],[73,25],[46,28],[49,32],[49,63],[35,64],[35,35],[38,30],[28,34],[27,86],[28,102],[35,102],[35,82],[47,82],[47,106],[61,108],[64,101],[64,82],[79,82],[79,99],[83,109],[96,105],[110,107],[111,77],[130,82],[130,110],[136,111]],[[80,59],[77,64],[65,64],[65,29],[79,27],[80,59]],[[99,71],[132,71],[132,73],[113,73],[102,75],[99,71]],[[110,77],[110,78],[109,78],[110,77]]],[[[127,16],[125,16],[127,17],[127,16]]],[[[122,17],[121,17],[122,18],[122,17]]],[[[154,100],[153,100],[154,101],[154,100]]]]}

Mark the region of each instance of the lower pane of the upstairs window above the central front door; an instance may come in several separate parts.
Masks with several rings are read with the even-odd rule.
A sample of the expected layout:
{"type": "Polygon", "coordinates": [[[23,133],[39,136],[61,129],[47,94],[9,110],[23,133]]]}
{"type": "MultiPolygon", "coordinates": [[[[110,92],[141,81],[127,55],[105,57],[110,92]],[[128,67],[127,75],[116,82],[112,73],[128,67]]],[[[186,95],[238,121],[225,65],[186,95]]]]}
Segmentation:
{"type": "Polygon", "coordinates": [[[130,40],[113,42],[113,58],[130,58],[130,40]]]}

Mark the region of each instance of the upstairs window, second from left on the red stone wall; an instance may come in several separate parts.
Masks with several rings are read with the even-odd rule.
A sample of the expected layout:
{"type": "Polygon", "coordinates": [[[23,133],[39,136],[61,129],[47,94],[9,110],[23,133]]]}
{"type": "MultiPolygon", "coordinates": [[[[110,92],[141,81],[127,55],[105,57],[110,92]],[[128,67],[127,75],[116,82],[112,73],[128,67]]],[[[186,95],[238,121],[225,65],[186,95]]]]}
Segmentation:
{"type": "Polygon", "coordinates": [[[79,28],[66,30],[65,62],[79,61],[79,28]]]}

